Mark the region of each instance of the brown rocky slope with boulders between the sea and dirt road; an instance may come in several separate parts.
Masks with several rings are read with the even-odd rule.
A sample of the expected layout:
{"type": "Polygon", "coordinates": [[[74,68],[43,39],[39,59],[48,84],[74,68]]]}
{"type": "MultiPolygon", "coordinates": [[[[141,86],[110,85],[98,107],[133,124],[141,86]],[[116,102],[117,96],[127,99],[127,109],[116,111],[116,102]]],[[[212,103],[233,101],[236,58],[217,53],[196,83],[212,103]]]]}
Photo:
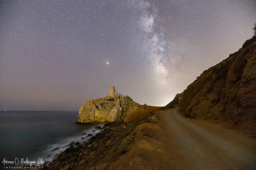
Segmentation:
{"type": "Polygon", "coordinates": [[[135,105],[123,121],[106,123],[84,146],[71,143],[44,169],[123,170],[170,169],[159,110],[135,105]]]}

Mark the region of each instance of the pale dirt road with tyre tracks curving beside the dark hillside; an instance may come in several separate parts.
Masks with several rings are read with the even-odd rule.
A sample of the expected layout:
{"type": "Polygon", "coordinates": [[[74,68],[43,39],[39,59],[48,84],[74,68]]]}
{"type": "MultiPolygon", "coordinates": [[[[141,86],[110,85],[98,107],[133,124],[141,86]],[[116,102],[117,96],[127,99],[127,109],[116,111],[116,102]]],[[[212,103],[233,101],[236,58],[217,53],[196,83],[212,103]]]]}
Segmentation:
{"type": "Polygon", "coordinates": [[[174,169],[255,170],[256,140],[204,120],[162,112],[174,169]]]}

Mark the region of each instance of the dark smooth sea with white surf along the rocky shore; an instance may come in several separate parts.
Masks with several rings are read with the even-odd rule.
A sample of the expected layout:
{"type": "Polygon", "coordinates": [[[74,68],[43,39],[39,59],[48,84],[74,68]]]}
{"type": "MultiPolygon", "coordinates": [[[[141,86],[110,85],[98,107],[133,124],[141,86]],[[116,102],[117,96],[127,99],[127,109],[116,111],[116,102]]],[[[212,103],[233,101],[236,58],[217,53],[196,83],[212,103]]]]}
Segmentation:
{"type": "Polygon", "coordinates": [[[103,127],[102,124],[77,124],[77,117],[78,111],[1,111],[0,169],[20,166],[26,160],[35,161],[32,164],[35,166],[38,160],[39,165],[42,161],[47,163],[72,142],[84,145],[100,131],[94,127],[103,127]]]}

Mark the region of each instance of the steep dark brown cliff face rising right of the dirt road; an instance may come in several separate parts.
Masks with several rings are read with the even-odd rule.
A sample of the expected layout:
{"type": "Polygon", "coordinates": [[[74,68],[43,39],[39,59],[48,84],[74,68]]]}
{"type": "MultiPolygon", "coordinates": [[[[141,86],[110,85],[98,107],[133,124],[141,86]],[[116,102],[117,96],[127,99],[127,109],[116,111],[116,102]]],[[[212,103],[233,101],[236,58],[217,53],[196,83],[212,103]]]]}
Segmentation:
{"type": "Polygon", "coordinates": [[[256,132],[256,37],[204,71],[180,95],[180,111],[256,132]]]}

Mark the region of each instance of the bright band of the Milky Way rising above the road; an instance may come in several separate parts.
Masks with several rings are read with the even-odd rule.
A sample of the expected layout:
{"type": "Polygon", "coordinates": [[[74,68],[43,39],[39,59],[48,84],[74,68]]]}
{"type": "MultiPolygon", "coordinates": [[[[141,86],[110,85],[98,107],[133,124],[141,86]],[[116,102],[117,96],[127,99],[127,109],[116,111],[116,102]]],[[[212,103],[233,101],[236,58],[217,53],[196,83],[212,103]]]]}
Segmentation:
{"type": "Polygon", "coordinates": [[[158,9],[151,5],[148,1],[137,1],[135,10],[139,11],[139,24],[142,32],[145,33],[145,42],[143,48],[147,58],[152,62],[155,72],[160,75],[163,80],[168,75],[168,69],[165,62],[168,60],[166,43],[164,40],[164,31],[161,27],[161,21],[158,17],[158,9]]]}

